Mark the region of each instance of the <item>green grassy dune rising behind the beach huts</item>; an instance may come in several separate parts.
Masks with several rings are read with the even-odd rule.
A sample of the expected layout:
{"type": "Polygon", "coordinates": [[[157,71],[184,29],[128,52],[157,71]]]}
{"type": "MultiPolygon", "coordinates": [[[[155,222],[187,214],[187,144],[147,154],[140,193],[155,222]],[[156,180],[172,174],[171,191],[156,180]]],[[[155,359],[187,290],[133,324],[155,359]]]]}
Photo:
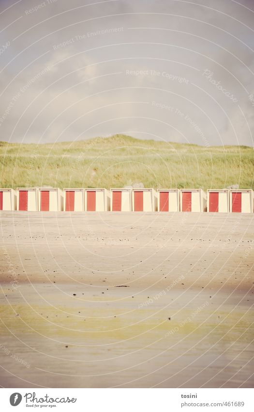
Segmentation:
{"type": "Polygon", "coordinates": [[[0,187],[254,189],[254,150],[139,140],[117,134],[78,142],[0,142],[0,187]]]}

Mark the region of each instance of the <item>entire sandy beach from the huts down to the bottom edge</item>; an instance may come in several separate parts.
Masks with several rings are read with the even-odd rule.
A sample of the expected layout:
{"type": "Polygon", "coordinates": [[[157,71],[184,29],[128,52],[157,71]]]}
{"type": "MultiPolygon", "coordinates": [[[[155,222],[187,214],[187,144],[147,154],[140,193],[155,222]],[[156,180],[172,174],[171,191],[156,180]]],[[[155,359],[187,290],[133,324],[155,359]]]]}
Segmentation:
{"type": "Polygon", "coordinates": [[[253,387],[253,214],[0,221],[1,386],[253,387]]]}

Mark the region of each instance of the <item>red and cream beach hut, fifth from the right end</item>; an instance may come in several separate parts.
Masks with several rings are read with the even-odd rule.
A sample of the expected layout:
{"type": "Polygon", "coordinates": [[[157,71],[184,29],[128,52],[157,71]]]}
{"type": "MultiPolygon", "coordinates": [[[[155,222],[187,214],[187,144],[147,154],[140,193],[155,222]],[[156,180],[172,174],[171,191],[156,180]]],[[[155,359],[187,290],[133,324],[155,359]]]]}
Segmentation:
{"type": "Polygon", "coordinates": [[[133,212],[157,211],[157,192],[154,189],[132,189],[133,212]]]}

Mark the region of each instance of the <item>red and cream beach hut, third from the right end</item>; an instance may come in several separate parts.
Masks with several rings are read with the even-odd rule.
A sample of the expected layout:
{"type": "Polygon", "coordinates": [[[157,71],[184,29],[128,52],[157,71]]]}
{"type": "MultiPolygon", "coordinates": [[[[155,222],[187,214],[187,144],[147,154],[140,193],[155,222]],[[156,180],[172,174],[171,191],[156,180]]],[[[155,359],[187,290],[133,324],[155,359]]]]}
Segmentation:
{"type": "Polygon", "coordinates": [[[181,212],[205,212],[207,209],[207,195],[202,189],[180,190],[181,212]]]}

